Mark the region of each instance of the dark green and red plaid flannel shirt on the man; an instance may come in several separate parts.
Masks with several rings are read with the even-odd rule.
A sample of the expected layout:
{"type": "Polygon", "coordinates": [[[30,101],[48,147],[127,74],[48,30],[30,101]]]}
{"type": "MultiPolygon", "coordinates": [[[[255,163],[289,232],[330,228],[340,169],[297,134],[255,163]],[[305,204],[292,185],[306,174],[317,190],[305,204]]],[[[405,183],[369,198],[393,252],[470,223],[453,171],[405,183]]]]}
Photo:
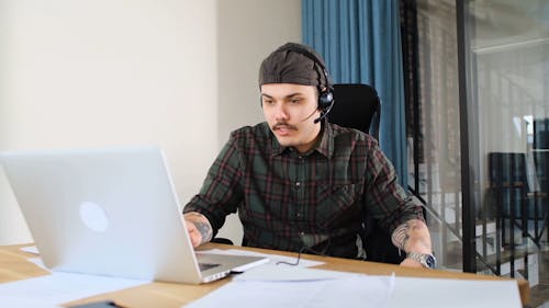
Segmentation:
{"type": "Polygon", "coordinates": [[[203,214],[215,235],[238,210],[247,246],[344,258],[361,253],[365,215],[389,233],[423,219],[376,139],[327,122],[321,134],[300,153],[281,146],[267,123],[233,132],[184,212],[203,214]]]}

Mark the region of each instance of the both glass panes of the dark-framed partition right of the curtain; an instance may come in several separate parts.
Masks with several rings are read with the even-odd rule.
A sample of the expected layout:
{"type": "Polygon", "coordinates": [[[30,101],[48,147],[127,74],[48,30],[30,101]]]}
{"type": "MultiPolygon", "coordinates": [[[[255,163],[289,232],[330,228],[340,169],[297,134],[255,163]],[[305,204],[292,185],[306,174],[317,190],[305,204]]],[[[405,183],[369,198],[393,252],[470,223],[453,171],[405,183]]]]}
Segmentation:
{"type": "Polygon", "coordinates": [[[435,253],[441,267],[463,270],[470,224],[473,267],[524,277],[535,297],[549,273],[549,1],[464,1],[462,24],[455,1],[403,2],[415,16],[414,31],[406,19],[403,26],[404,42],[415,42],[415,49],[404,44],[404,61],[417,73],[406,89],[408,183],[427,205],[435,253]],[[467,109],[458,26],[466,33],[467,109]],[[472,203],[467,221],[463,198],[472,203]]]}

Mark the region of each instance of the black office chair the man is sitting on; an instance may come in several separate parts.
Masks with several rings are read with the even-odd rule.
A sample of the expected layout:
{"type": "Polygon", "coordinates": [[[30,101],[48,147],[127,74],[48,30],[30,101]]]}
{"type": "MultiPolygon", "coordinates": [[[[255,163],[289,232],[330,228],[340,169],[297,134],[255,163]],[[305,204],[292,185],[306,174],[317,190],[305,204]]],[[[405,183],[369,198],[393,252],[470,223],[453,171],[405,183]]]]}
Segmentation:
{"type": "MultiPolygon", "coordinates": [[[[367,84],[335,84],[334,106],[328,114],[328,122],[351,127],[379,139],[381,103],[378,92],[367,84]]],[[[378,221],[365,214],[363,228],[360,232],[367,260],[383,263],[401,263],[405,254],[399,252],[391,235],[379,227],[378,221]]]]}

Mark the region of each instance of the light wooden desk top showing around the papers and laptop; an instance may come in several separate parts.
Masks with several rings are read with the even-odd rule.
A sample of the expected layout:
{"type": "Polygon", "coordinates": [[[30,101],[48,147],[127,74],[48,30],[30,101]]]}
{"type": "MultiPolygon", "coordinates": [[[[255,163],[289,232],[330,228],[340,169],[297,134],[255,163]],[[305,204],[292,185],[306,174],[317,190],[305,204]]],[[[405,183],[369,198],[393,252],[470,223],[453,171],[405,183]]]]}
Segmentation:
{"type": "MultiPolygon", "coordinates": [[[[24,246],[4,246],[0,247],[0,283],[25,280],[47,275],[48,273],[33,263],[26,261],[26,258],[34,258],[34,254],[22,252],[20,249],[24,246]]],[[[238,247],[208,243],[201,249],[234,249],[238,247]]],[[[272,251],[264,249],[243,248],[246,250],[295,256],[295,253],[272,251]]],[[[458,278],[458,280],[503,280],[496,276],[475,275],[470,273],[448,272],[437,270],[408,269],[392,264],[373,263],[365,261],[355,261],[330,256],[304,255],[310,260],[322,261],[325,264],[317,266],[324,270],[335,270],[343,272],[365,273],[371,275],[390,275],[395,273],[397,276],[413,277],[437,277],[437,278],[458,278]]],[[[101,299],[112,299],[124,307],[173,307],[179,308],[197,298],[204,296],[213,289],[229,282],[229,278],[221,280],[203,285],[186,285],[172,283],[150,283],[137,287],[132,287],[119,292],[92,296],[77,301],[66,303],[64,306],[85,304],[101,299]]],[[[527,281],[517,281],[518,290],[523,305],[529,304],[530,289],[527,281]]]]}

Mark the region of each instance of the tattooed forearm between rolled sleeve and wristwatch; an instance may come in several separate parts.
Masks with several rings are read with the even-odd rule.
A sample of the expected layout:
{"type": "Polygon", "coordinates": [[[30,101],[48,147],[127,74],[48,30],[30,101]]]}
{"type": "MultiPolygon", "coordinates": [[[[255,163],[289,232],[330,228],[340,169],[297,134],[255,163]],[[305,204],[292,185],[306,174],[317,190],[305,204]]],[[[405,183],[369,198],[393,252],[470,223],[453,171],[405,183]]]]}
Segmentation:
{"type": "Polygon", "coordinates": [[[406,253],[433,253],[429,229],[427,225],[419,219],[410,219],[396,227],[391,240],[396,248],[406,253]]]}

